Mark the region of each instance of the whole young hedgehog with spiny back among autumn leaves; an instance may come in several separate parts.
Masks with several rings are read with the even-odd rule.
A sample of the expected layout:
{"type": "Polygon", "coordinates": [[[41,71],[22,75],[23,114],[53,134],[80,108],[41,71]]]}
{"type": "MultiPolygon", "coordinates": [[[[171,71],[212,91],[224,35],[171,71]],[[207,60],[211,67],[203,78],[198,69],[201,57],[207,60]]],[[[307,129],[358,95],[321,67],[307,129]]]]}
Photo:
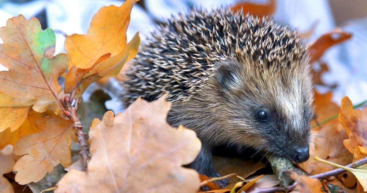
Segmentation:
{"type": "Polygon", "coordinates": [[[248,146],[292,159],[309,158],[313,92],[301,37],[242,11],[191,10],[152,33],[122,83],[126,107],[167,93],[167,121],[195,130],[202,149],[190,167],[218,176],[211,150],[248,146]]]}

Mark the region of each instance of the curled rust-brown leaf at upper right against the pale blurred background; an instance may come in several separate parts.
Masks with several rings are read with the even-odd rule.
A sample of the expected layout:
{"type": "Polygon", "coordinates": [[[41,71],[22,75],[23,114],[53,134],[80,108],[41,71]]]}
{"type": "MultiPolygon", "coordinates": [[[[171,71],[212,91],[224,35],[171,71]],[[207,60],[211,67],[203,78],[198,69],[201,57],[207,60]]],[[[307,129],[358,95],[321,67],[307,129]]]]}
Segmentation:
{"type": "Polygon", "coordinates": [[[339,28],[320,36],[316,41],[311,42],[308,49],[310,52],[310,61],[313,63],[320,59],[324,52],[333,45],[340,44],[349,40],[352,34],[341,31],[339,28]]]}

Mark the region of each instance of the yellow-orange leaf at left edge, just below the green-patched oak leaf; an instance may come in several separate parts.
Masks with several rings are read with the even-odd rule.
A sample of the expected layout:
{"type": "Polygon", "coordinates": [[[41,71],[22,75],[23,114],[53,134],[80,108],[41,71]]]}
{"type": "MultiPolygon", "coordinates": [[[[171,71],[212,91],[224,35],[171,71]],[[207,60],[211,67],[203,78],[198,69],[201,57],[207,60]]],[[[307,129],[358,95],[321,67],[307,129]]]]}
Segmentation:
{"type": "Polygon", "coordinates": [[[31,104],[31,99],[17,99],[0,92],[0,132],[6,129],[14,131],[21,126],[31,104]]]}

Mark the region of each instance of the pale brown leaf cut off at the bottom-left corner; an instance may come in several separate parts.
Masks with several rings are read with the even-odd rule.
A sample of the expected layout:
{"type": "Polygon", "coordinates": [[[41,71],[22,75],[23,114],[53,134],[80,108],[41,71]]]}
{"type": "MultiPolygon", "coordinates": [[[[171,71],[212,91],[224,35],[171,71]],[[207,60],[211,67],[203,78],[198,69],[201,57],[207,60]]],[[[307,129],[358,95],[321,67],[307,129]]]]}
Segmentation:
{"type": "Polygon", "coordinates": [[[11,147],[9,148],[9,146],[7,146],[0,151],[0,192],[14,192],[14,189],[10,182],[3,176],[4,174],[11,172],[14,164],[15,161],[12,157],[11,147]]]}

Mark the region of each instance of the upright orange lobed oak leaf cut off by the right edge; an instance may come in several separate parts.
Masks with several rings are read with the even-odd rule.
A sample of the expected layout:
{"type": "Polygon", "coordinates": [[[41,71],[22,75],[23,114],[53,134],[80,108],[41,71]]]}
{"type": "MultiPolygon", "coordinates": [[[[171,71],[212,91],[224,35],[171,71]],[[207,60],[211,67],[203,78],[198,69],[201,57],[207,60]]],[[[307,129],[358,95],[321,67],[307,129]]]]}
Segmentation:
{"type": "Polygon", "coordinates": [[[342,99],[339,120],[349,137],[344,140],[348,151],[353,154],[356,146],[367,148],[367,116],[361,110],[353,110],[348,97],[342,99]]]}

